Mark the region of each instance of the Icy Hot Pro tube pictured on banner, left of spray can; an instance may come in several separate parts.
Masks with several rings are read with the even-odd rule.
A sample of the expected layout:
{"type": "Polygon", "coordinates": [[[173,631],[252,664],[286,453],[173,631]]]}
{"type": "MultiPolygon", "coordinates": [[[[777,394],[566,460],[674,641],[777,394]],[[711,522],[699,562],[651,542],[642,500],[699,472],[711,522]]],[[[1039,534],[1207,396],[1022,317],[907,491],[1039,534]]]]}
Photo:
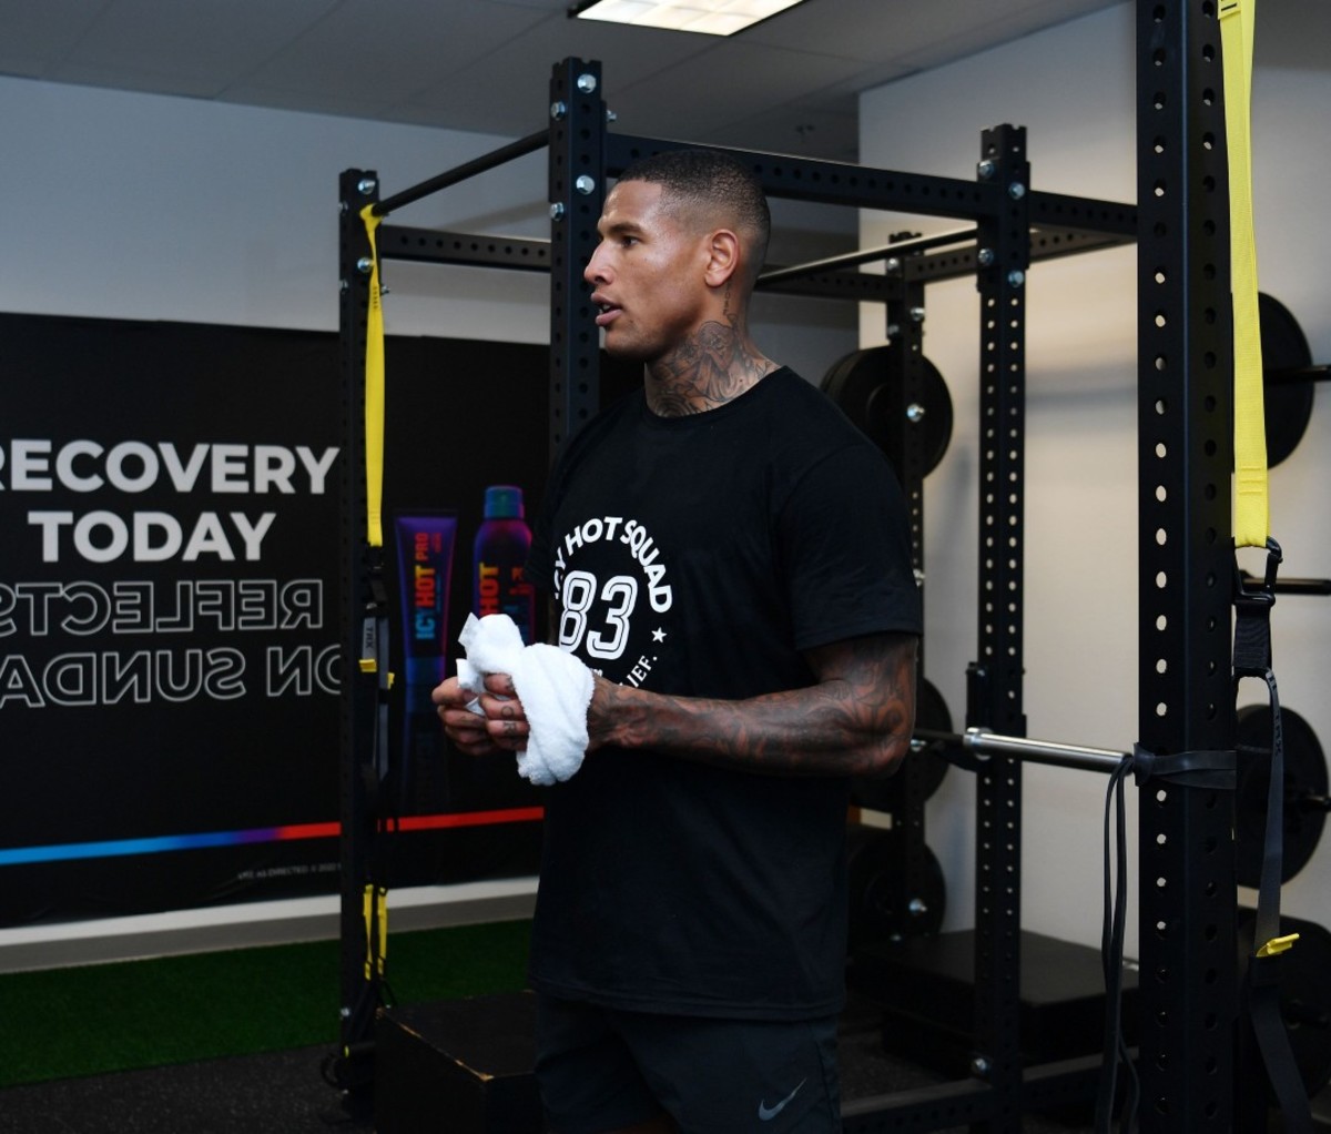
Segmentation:
{"type": "Polygon", "coordinates": [[[453,512],[399,512],[398,595],[409,685],[438,685],[447,675],[449,586],[458,518],[453,512]]]}

